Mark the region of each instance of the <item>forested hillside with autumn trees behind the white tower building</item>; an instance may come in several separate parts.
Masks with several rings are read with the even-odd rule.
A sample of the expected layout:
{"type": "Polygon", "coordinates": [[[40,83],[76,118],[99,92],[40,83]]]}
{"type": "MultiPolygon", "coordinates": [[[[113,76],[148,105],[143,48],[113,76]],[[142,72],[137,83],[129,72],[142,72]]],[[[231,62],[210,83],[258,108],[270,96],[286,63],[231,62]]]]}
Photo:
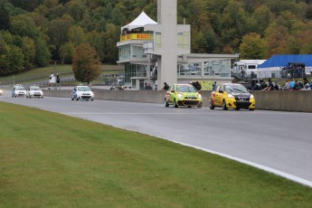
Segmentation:
{"type": "MultiPolygon", "coordinates": [[[[244,59],[312,53],[312,0],[178,0],[178,24],[191,24],[192,52],[244,59]]],[[[118,61],[120,27],[157,0],[0,0],[0,76],[71,63],[80,43],[102,62],[118,61]]]]}

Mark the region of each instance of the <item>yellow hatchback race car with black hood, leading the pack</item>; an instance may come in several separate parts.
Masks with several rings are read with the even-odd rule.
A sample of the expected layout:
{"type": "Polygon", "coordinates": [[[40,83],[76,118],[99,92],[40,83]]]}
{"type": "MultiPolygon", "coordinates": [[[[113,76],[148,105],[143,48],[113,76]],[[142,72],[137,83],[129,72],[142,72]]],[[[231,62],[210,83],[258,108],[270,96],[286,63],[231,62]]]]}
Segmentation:
{"type": "Polygon", "coordinates": [[[224,83],[216,87],[210,97],[209,107],[222,109],[255,109],[254,96],[241,84],[224,83]]]}

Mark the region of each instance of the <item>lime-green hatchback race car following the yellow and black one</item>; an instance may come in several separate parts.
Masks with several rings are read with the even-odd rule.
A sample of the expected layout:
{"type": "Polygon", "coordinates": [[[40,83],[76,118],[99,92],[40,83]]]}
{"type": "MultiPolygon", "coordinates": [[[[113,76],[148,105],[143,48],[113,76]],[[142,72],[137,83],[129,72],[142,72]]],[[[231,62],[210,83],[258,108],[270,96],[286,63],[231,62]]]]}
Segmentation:
{"type": "Polygon", "coordinates": [[[192,84],[173,84],[165,92],[165,107],[169,105],[174,105],[175,108],[179,106],[202,108],[203,99],[201,93],[192,84]]]}

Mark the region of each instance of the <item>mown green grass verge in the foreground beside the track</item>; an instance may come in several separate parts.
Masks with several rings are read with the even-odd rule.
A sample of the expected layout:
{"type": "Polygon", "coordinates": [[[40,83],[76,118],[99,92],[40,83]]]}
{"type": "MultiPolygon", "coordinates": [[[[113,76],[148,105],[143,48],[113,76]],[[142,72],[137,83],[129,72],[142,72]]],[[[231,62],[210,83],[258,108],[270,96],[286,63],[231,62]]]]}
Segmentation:
{"type": "Polygon", "coordinates": [[[0,102],[0,207],[311,207],[312,189],[164,139],[0,102]]]}

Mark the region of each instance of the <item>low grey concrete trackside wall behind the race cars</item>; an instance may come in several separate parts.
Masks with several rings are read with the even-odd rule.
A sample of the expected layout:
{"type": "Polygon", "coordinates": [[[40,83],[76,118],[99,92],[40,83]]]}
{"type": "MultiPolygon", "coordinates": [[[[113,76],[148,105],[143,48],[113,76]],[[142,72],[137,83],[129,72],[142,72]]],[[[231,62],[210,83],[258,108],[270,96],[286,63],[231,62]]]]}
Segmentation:
{"type": "MultiPolygon", "coordinates": [[[[95,99],[164,103],[162,90],[93,90],[95,99]]],[[[71,99],[71,90],[43,90],[46,97],[71,99]]],[[[253,91],[256,109],[312,112],[312,91],[253,91]]],[[[211,91],[202,91],[203,106],[209,106],[211,91]]]]}

